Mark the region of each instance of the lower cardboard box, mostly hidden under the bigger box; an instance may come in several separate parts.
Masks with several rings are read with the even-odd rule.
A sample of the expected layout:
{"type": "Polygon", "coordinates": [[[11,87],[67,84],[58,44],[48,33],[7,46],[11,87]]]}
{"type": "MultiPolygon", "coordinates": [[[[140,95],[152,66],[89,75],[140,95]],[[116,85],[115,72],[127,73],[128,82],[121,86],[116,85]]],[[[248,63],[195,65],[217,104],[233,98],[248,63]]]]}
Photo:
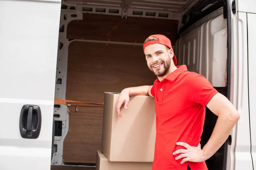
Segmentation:
{"type": "Polygon", "coordinates": [[[152,162],[111,162],[97,150],[96,170],[152,170],[152,162]]]}

